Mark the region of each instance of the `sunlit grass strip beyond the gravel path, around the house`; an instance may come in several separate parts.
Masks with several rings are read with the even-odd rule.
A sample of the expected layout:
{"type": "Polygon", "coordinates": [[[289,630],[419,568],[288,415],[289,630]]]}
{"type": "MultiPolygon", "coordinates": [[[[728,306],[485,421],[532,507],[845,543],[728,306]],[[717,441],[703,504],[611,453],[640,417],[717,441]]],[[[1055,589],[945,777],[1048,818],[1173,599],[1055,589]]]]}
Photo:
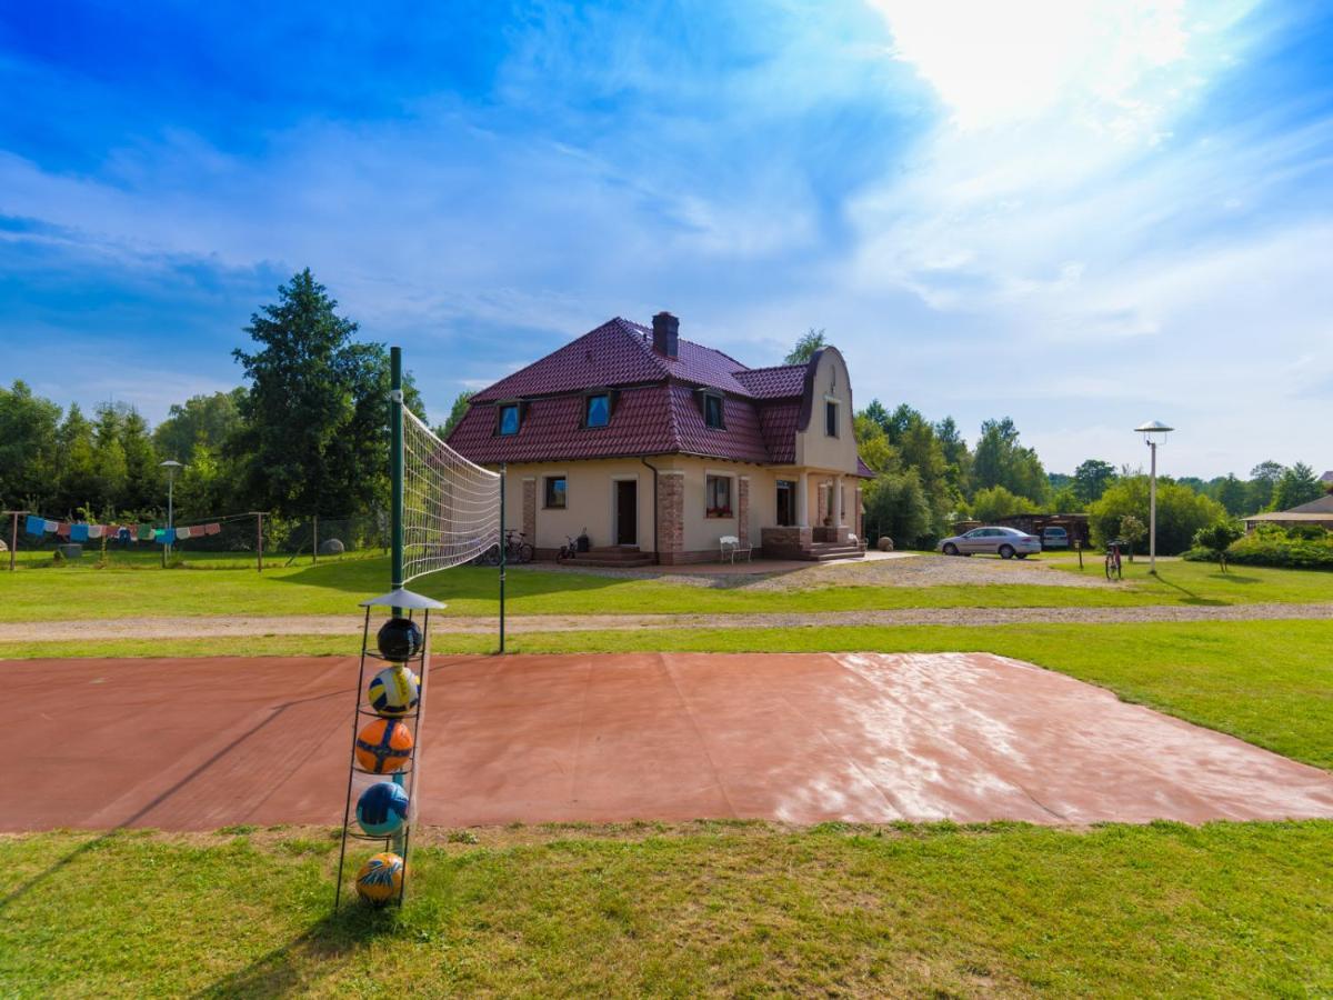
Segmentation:
{"type": "MultiPolygon", "coordinates": [[[[913,556],[913,559],[945,559],[913,556]]],[[[1096,588],[1032,584],[948,584],[884,587],[854,583],[794,591],[758,591],[754,580],[737,587],[705,588],[656,580],[627,580],[591,573],[511,569],[508,611],[512,615],[762,613],[837,612],[893,608],[1069,608],[1141,607],[1149,604],[1229,605],[1256,601],[1333,601],[1333,573],[1245,567],[1221,573],[1200,563],[1126,565],[1121,584],[1096,588]],[[745,585],[745,584],[749,585],[745,585]]],[[[868,568],[868,567],[866,567],[868,568]]],[[[858,567],[845,569],[848,581],[858,567]]],[[[1080,572],[1058,557],[1048,572],[1080,572]]],[[[1100,564],[1082,571],[1092,579],[1100,564]]],[[[91,560],[64,567],[32,565],[0,572],[0,621],[61,619],[161,617],[177,615],[345,615],[356,603],[388,589],[383,557],[321,561],[319,565],[160,569],[152,565],[93,568],[91,560]]],[[[413,588],[448,603],[447,615],[493,615],[499,607],[497,572],[459,567],[423,577],[413,588]]]]}

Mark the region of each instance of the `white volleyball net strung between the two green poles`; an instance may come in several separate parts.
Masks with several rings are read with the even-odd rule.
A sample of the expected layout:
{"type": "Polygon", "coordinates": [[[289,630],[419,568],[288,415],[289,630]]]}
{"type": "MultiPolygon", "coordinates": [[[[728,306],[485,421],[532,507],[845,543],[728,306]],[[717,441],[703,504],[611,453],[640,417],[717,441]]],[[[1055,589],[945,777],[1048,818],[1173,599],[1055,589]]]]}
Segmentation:
{"type": "Polygon", "coordinates": [[[403,408],[403,583],[500,544],[500,475],[447,445],[403,408]]]}

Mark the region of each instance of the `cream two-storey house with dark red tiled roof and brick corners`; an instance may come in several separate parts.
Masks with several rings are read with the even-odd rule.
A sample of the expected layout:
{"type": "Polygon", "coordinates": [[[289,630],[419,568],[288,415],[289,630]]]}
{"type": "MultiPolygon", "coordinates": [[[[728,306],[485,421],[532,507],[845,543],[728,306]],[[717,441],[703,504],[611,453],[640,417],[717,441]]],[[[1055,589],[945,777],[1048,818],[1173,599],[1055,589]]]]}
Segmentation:
{"type": "Polygon", "coordinates": [[[748,368],[616,317],[476,393],[449,444],[504,467],[505,527],[539,559],[587,529],[593,560],[713,561],[858,555],[861,481],[846,361],[748,368]]]}

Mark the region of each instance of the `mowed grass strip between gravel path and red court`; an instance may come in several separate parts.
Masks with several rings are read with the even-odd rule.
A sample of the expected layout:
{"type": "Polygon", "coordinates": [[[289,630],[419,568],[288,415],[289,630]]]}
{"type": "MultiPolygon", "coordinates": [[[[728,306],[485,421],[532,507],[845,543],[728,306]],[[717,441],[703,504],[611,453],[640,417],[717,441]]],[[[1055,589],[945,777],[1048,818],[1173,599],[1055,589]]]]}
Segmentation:
{"type": "MultiPolygon", "coordinates": [[[[357,636],[3,643],[0,657],[355,656],[357,636]]],[[[493,635],[435,633],[436,655],[493,635]]],[[[1198,725],[1333,769],[1333,621],[624,629],[511,635],[513,653],[990,652],[1100,684],[1198,725]]]]}

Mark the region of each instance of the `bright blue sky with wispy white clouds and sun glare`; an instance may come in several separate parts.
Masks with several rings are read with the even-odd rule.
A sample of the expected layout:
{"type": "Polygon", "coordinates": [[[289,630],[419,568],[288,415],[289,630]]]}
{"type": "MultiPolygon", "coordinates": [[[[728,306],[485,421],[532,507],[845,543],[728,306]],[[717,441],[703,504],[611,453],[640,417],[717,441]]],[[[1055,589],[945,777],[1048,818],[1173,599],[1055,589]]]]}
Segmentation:
{"type": "Polygon", "coordinates": [[[0,381],[152,420],[309,265],[432,416],[601,320],[1053,471],[1333,468],[1318,3],[11,4],[0,381]]]}

